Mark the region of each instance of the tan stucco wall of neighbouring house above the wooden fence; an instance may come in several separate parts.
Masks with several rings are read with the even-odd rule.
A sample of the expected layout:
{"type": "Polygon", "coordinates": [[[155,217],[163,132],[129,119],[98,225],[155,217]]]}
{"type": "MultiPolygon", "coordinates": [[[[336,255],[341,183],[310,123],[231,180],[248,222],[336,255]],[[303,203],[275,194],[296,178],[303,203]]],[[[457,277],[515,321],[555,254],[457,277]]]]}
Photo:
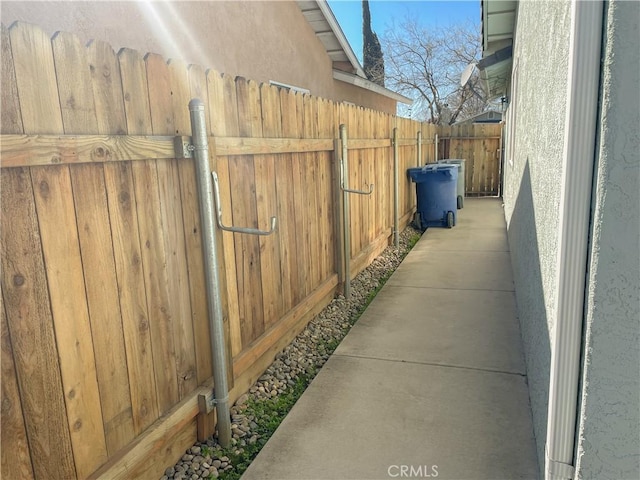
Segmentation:
{"type": "Polygon", "coordinates": [[[333,79],[332,62],[293,1],[4,1],[0,18],[176,58],[258,82],[395,112],[395,102],[333,79]]]}

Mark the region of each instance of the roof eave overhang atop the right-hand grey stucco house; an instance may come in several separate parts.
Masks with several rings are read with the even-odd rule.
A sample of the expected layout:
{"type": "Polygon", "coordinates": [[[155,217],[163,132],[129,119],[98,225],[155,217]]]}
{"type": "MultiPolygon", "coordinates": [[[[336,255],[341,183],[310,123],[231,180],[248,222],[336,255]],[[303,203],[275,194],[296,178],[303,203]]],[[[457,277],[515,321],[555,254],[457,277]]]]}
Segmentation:
{"type": "Polygon", "coordinates": [[[517,9],[515,0],[480,0],[482,60],[478,62],[478,69],[489,99],[507,93],[517,9]]]}

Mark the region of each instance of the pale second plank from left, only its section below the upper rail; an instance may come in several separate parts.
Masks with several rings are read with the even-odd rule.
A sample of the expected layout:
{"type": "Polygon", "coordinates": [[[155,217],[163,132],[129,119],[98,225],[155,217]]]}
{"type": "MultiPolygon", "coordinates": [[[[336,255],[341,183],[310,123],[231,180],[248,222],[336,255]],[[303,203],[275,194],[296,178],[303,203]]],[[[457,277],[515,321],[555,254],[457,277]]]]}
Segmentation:
{"type": "Polygon", "coordinates": [[[76,469],[107,459],[71,178],[67,167],[31,170],[76,469]],[[53,288],[55,286],[55,288],[53,288]],[[80,295],[69,292],[81,292],[80,295]]]}

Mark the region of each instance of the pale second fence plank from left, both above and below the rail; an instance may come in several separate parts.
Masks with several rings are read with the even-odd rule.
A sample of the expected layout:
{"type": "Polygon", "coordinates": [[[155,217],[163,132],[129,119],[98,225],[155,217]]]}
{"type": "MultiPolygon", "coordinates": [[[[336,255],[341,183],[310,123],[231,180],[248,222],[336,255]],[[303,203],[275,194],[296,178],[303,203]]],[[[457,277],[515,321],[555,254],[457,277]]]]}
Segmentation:
{"type": "MultiPolygon", "coordinates": [[[[31,25],[14,25],[10,35],[14,58],[22,60],[16,63],[16,81],[25,133],[63,133],[51,42],[31,25]]],[[[68,295],[67,290],[84,292],[69,169],[32,168],[31,175],[71,445],[77,473],[84,476],[106,459],[106,445],[87,302],[84,295],[68,295]],[[61,225],[67,228],[61,230],[61,225]],[[87,455],[92,442],[95,458],[87,455]]]]}

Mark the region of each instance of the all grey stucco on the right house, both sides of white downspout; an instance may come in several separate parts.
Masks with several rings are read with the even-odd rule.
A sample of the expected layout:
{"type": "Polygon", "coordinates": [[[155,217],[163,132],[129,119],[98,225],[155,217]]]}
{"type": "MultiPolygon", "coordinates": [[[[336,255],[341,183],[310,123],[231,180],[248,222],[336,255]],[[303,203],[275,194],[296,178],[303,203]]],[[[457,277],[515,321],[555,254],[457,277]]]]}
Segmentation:
{"type": "MultiPolygon", "coordinates": [[[[604,3],[575,478],[640,478],[640,4],[604,3]]],[[[521,1],[504,204],[544,471],[565,139],[569,1],[521,1]]]]}

